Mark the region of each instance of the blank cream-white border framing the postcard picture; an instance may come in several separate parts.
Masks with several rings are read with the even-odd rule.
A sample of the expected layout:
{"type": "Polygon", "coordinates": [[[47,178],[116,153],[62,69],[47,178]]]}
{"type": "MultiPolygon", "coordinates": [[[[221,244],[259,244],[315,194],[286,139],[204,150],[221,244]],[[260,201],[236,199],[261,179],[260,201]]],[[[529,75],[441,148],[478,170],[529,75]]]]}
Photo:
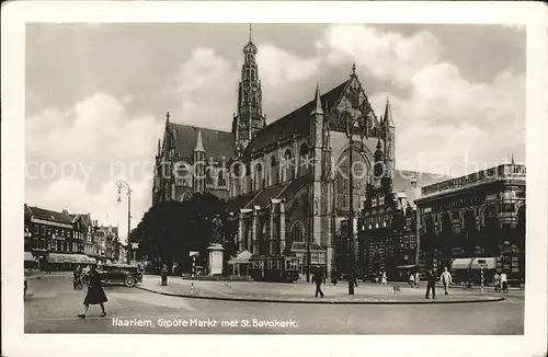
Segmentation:
{"type": "MultiPolygon", "coordinates": [[[[547,352],[547,12],[541,2],[15,1],[2,7],[2,355],[541,356],[547,352]],[[489,23],[527,31],[527,284],[523,336],[23,334],[26,22],[489,23]],[[20,254],[21,253],[21,254],[20,254]]],[[[55,85],[55,83],[52,83],[55,85]]],[[[503,313],[503,312],[501,312],[503,313]]],[[[473,323],[475,316],[470,316],[473,323]]]]}

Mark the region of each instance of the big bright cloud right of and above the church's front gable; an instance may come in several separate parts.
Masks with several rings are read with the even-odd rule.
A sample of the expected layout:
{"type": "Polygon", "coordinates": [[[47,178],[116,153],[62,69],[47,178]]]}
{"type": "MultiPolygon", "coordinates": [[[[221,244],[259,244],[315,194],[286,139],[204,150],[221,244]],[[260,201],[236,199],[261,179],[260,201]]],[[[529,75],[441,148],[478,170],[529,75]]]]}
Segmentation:
{"type": "Polygon", "coordinates": [[[505,162],[511,153],[506,151],[523,154],[524,74],[501,70],[490,83],[467,80],[443,59],[444,46],[426,31],[403,36],[368,26],[334,25],[321,44],[328,62],[353,60],[358,71],[406,90],[404,95],[374,93],[369,99],[378,115],[390,99],[397,164],[410,169],[427,164],[459,175],[505,162]]]}

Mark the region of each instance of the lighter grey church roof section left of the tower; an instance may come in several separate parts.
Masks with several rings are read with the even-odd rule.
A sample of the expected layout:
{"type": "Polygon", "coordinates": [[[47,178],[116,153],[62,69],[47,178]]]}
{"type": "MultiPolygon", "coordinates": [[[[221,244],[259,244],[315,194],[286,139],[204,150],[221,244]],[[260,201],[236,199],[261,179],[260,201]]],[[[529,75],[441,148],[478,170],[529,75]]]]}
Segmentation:
{"type": "Polygon", "coordinates": [[[198,141],[198,133],[202,136],[202,146],[206,157],[220,160],[225,158],[236,158],[235,136],[230,131],[221,131],[207,128],[198,128],[190,125],[170,123],[173,134],[173,146],[175,152],[182,156],[193,156],[198,141]]]}

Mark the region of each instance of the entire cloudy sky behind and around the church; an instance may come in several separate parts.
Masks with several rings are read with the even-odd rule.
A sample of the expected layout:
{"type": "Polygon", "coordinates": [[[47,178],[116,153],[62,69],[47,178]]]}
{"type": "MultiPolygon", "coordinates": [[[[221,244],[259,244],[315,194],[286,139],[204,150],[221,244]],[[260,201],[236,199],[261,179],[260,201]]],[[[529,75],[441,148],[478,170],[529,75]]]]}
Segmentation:
{"type": "MultiPolygon", "coordinates": [[[[31,24],[25,201],[126,231],[151,203],[164,114],[229,130],[248,24],[31,24]]],[[[460,175],[525,160],[525,32],[491,25],[253,26],[267,122],[346,80],[352,62],[401,169],[460,175]],[[429,170],[430,169],[430,170],[429,170]]]]}

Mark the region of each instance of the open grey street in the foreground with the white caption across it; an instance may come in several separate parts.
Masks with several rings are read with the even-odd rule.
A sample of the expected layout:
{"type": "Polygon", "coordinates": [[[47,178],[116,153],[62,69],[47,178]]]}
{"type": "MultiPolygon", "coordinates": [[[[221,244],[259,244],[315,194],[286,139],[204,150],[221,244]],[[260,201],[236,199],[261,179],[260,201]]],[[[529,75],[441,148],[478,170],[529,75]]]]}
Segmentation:
{"type": "MultiPolygon", "coordinates": [[[[456,304],[293,304],[186,299],[106,286],[107,315],[70,275],[30,281],[25,333],[523,334],[523,290],[505,301],[456,304]]],[[[438,290],[438,293],[441,291],[438,290]]]]}

